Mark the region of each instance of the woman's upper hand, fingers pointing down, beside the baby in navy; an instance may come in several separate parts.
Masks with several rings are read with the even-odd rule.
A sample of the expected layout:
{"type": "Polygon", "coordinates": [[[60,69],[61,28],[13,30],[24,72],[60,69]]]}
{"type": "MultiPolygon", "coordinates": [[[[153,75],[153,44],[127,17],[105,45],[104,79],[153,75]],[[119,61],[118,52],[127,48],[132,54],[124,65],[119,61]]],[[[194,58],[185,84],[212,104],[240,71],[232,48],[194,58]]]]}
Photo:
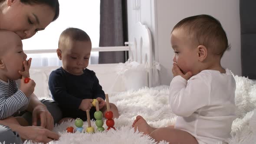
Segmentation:
{"type": "Polygon", "coordinates": [[[38,120],[41,122],[41,127],[53,130],[53,116],[43,104],[36,106],[32,112],[32,125],[37,126],[38,120]]]}

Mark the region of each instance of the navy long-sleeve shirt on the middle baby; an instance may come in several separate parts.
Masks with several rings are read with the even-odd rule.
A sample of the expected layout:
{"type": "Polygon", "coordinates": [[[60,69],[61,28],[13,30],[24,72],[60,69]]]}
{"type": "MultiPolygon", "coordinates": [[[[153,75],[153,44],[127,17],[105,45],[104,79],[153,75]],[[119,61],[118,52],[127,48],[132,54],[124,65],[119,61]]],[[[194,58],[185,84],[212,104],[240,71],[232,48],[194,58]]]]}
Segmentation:
{"type": "MultiPolygon", "coordinates": [[[[62,109],[63,117],[81,118],[86,121],[86,111],[79,109],[83,99],[103,98],[105,93],[95,72],[84,69],[82,75],[72,75],[62,67],[51,72],[49,89],[53,99],[62,109]]],[[[90,110],[91,118],[95,108],[90,110]]]]}

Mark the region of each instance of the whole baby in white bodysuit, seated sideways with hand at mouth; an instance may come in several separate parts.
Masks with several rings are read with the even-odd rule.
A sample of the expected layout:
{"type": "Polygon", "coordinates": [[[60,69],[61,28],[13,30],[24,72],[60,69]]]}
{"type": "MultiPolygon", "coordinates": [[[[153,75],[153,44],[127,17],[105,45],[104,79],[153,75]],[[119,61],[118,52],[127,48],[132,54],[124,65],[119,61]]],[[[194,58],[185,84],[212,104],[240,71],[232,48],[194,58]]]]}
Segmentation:
{"type": "Polygon", "coordinates": [[[229,49],[220,22],[209,15],[190,16],[171,32],[174,79],[169,101],[174,126],[152,128],[141,116],[135,130],[170,144],[215,144],[230,138],[235,119],[236,82],[220,59],[229,49]]]}

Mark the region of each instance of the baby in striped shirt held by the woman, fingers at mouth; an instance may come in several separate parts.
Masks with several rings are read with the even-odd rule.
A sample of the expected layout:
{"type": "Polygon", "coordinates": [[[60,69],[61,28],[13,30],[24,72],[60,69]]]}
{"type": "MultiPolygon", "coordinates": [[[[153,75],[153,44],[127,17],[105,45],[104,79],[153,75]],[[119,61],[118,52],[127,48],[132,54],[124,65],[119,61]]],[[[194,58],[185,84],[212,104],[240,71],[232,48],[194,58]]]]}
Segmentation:
{"type": "Polygon", "coordinates": [[[26,110],[30,95],[34,92],[35,82],[29,77],[31,59],[26,61],[20,37],[13,32],[0,30],[0,120],[25,126],[22,117],[13,114],[26,110]],[[15,80],[21,79],[20,89],[15,80]]]}

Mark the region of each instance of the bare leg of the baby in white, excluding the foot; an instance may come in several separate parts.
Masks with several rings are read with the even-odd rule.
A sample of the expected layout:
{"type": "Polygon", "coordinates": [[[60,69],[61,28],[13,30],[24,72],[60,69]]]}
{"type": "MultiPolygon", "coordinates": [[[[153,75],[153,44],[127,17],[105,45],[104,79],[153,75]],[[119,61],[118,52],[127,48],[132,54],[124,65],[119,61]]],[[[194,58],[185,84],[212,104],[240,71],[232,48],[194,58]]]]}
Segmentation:
{"type": "Polygon", "coordinates": [[[167,141],[170,144],[198,144],[195,137],[189,134],[187,131],[166,127],[158,128],[149,134],[156,141],[167,141]]]}

